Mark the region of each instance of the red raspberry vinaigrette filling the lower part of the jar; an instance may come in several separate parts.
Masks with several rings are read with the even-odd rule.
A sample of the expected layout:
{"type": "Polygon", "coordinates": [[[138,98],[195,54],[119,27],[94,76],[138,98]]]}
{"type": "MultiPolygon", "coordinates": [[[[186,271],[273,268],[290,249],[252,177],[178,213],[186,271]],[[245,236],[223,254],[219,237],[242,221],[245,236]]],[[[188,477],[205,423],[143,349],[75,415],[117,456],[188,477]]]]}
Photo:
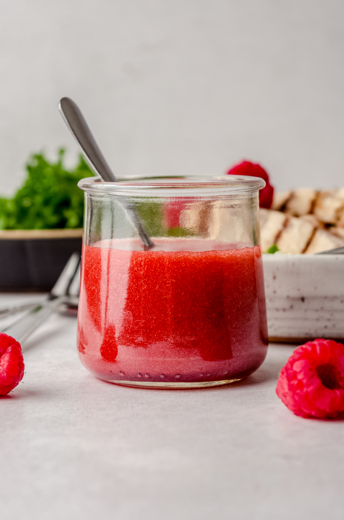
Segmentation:
{"type": "Polygon", "coordinates": [[[225,384],[254,372],[268,344],[261,250],[227,245],[84,245],[77,337],[84,366],[105,381],[152,387],[225,384]]]}

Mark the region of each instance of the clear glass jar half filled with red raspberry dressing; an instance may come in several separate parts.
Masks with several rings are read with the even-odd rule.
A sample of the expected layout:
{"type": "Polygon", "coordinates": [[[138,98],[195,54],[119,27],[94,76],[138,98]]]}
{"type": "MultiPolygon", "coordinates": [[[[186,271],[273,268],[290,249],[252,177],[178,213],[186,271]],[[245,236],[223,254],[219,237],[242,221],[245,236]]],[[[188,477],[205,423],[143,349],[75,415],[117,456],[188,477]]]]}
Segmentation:
{"type": "Polygon", "coordinates": [[[247,176],[83,179],[77,348],[111,383],[194,388],[261,365],[258,190],[247,176]]]}

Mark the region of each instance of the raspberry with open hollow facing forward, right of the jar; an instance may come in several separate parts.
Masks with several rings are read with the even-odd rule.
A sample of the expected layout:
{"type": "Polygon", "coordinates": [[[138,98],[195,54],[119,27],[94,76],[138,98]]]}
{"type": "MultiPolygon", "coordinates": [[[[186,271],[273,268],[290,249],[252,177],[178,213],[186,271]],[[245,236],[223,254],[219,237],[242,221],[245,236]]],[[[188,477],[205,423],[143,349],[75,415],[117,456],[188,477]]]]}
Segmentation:
{"type": "Polygon", "coordinates": [[[317,339],[289,357],[276,394],[296,415],[333,419],[344,411],[344,345],[317,339]]]}

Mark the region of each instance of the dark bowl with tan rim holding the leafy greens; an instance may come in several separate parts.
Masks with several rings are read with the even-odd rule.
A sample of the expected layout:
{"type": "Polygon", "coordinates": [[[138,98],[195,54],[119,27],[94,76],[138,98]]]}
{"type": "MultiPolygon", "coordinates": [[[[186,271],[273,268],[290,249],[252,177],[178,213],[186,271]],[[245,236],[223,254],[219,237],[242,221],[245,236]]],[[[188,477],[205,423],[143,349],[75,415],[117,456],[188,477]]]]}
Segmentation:
{"type": "Polygon", "coordinates": [[[50,291],[74,251],[82,229],[0,231],[0,291],[50,291]]]}

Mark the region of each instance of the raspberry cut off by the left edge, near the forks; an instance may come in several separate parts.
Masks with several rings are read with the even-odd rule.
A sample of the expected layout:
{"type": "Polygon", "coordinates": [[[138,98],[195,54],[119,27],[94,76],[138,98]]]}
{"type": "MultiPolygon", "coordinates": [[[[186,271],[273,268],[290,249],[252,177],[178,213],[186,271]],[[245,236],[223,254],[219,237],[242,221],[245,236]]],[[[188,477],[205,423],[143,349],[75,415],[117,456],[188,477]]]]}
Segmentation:
{"type": "Polygon", "coordinates": [[[6,395],[22,380],[24,360],[14,337],[0,333],[0,395],[6,395]]]}

